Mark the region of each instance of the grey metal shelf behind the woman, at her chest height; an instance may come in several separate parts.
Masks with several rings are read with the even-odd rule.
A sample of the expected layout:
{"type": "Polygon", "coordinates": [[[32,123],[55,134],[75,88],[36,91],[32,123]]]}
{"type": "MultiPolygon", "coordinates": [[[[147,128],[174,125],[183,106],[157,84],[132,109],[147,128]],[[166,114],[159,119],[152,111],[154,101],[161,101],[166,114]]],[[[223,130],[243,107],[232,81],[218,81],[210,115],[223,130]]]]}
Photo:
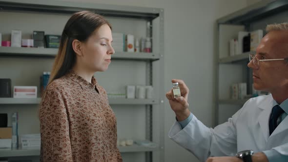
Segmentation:
{"type": "MultiPolygon", "coordinates": [[[[110,104],[158,104],[158,99],[110,98],[110,104]]],[[[41,98],[0,98],[0,104],[39,104],[41,98]]]]}

